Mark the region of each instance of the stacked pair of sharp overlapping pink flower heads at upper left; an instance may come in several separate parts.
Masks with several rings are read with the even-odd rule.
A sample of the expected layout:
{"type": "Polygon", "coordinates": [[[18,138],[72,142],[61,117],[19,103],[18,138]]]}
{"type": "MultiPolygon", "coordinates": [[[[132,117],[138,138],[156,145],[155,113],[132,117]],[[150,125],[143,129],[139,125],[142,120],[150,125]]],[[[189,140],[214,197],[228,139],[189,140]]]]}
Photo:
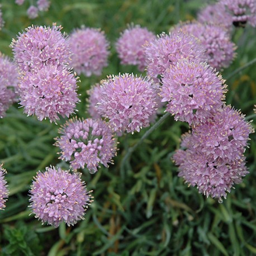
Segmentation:
{"type": "Polygon", "coordinates": [[[56,121],[74,112],[77,78],[67,68],[70,48],[61,26],[32,26],[11,47],[20,72],[20,104],[27,115],[56,121]]]}

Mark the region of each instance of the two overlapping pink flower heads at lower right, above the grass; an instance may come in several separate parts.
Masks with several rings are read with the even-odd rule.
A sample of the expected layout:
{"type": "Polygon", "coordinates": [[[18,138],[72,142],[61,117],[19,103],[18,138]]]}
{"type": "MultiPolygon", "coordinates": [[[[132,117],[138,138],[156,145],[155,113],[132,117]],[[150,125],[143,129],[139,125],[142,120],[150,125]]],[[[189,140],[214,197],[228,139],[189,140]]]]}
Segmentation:
{"type": "Polygon", "coordinates": [[[233,184],[248,173],[243,153],[251,132],[252,126],[240,112],[230,106],[220,108],[183,137],[182,146],[187,149],[179,149],[173,157],[179,165],[179,177],[221,202],[233,184]]]}

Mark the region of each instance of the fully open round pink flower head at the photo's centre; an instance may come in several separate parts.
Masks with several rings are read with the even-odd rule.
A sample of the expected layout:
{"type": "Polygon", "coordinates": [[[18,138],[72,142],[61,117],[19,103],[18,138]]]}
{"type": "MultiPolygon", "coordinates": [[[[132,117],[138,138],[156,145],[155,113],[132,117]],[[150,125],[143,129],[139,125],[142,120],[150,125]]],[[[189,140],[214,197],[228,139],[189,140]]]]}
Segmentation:
{"type": "Polygon", "coordinates": [[[103,80],[102,87],[98,112],[108,118],[113,130],[133,133],[149,126],[149,117],[158,107],[152,81],[123,74],[103,80]]]}

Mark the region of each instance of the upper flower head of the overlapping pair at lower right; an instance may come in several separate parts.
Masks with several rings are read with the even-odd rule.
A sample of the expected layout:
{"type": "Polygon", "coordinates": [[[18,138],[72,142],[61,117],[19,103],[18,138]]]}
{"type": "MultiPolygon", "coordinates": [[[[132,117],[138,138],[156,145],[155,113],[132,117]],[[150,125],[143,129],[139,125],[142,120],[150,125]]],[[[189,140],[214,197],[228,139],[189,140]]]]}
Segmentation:
{"type": "Polygon", "coordinates": [[[240,159],[252,132],[244,115],[231,106],[223,106],[206,122],[193,128],[190,141],[193,149],[231,162],[240,159]]]}

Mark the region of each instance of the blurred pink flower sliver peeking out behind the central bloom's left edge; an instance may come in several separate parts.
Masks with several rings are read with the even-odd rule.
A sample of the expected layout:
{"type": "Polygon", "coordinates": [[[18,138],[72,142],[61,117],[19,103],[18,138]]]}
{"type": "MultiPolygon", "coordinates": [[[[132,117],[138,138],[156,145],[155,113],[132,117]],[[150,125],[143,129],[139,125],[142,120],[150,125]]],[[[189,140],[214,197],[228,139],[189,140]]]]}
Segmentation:
{"type": "Polygon", "coordinates": [[[99,84],[95,84],[91,89],[87,91],[89,94],[88,98],[88,112],[93,119],[101,118],[98,113],[97,103],[101,98],[102,87],[99,84]]]}

